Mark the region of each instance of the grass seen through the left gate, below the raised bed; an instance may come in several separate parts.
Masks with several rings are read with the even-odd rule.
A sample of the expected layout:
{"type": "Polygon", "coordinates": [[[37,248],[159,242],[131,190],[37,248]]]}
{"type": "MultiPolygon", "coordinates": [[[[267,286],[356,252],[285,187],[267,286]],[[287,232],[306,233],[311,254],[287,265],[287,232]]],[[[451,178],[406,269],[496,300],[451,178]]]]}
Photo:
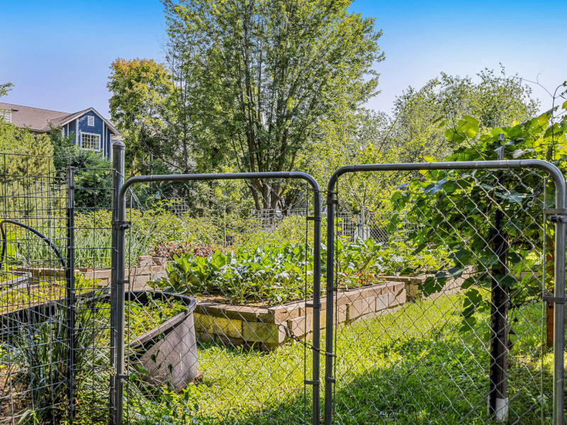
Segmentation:
{"type": "Polygon", "coordinates": [[[262,352],[205,343],[199,355],[205,374],[181,392],[130,380],[127,423],[311,424],[312,390],[303,387],[301,346],[262,352]]]}

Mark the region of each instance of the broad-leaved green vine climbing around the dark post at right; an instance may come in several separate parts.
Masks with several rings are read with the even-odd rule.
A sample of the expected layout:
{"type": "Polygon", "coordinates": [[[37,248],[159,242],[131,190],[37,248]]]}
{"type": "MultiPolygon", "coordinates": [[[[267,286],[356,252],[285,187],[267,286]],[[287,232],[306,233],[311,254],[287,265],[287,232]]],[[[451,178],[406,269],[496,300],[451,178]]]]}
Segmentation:
{"type": "MultiPolygon", "coordinates": [[[[445,133],[449,142],[456,145],[447,161],[498,159],[498,152],[503,149],[505,158],[546,159],[567,174],[566,122],[556,122],[552,112],[487,134],[478,134],[478,120],[465,116],[445,133]],[[503,145],[499,134],[504,135],[503,145]]],[[[542,240],[553,235],[549,227],[544,235],[537,221],[544,205],[544,189],[553,199],[553,180],[546,181],[546,185],[544,188],[541,174],[527,169],[454,169],[424,171],[393,194],[392,202],[398,210],[409,208],[410,222],[428,223],[410,234],[410,242],[417,247],[415,252],[428,246],[444,246],[448,251],[450,261],[439,267],[435,278],[426,284],[428,293],[441,290],[447,278],[460,276],[466,266],[475,267],[476,275],[464,284],[467,293],[463,318],[468,329],[475,324],[473,312],[488,308],[479,290],[490,290],[492,280],[498,280],[510,293],[510,307],[541,295],[541,283],[537,279],[541,266],[537,261],[541,260],[542,240]],[[503,217],[501,232],[510,241],[507,273],[498,271],[502,267],[492,242],[498,215],[503,217]]],[[[392,220],[389,230],[397,226],[392,220]]]]}

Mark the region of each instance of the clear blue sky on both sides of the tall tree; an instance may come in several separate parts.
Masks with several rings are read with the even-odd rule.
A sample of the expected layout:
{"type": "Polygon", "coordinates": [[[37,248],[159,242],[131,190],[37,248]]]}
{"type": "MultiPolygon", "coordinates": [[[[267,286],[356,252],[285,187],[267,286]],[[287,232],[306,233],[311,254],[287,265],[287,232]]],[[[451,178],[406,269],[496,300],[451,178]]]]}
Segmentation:
{"type": "MultiPolygon", "coordinates": [[[[376,64],[381,94],[369,107],[389,112],[395,96],[439,72],[475,75],[502,62],[508,74],[548,89],[567,79],[566,0],[371,1],[350,10],[376,18],[386,60],[376,64]]],[[[2,101],[56,111],[94,106],[108,115],[106,81],[116,57],[162,57],[158,0],[0,0],[2,101]]],[[[550,98],[534,86],[542,110],[550,98]]]]}

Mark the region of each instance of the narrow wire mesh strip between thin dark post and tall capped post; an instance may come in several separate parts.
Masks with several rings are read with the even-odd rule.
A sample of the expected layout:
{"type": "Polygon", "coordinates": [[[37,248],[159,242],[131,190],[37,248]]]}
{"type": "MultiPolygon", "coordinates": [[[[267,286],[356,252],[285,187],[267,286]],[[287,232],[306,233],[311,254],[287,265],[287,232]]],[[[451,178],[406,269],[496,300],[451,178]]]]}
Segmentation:
{"type": "Polygon", "coordinates": [[[74,169],[74,420],[111,419],[111,169],[74,169]]]}

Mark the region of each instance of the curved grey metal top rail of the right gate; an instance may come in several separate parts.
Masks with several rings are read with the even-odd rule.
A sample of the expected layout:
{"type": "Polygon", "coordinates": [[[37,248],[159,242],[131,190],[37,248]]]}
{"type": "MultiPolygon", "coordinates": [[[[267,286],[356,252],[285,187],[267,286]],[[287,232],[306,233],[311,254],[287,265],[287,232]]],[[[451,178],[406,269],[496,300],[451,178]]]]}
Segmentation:
{"type": "Polygon", "coordinates": [[[346,165],[332,174],[327,185],[328,196],[334,195],[335,184],[342,174],[357,171],[417,171],[417,170],[451,170],[451,169],[540,169],[548,172],[556,186],[556,207],[565,208],[566,183],[561,170],[551,162],[543,159],[515,159],[501,161],[451,161],[451,162],[417,162],[402,164],[359,164],[346,165]]]}

